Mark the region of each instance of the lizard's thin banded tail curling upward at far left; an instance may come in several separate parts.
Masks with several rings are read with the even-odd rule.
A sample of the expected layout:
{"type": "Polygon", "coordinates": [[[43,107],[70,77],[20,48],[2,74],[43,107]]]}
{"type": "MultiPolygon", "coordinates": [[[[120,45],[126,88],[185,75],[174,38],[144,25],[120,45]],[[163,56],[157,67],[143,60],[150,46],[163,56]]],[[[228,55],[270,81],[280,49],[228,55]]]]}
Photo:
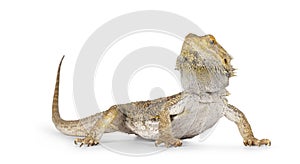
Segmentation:
{"type": "Polygon", "coordinates": [[[52,121],[55,127],[62,133],[66,135],[73,135],[73,136],[85,136],[86,130],[81,123],[81,120],[70,120],[66,121],[60,117],[59,108],[58,108],[58,95],[59,95],[59,77],[60,77],[60,68],[62,61],[65,56],[62,57],[57,71],[56,76],[56,84],[53,96],[53,103],[52,103],[52,121]]]}

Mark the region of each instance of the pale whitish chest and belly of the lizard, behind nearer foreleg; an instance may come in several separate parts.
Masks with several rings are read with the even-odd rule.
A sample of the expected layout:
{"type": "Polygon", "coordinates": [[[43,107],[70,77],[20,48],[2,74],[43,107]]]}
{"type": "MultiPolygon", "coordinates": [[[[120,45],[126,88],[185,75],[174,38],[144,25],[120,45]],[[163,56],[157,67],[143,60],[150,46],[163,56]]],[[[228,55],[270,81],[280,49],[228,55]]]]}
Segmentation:
{"type": "MultiPolygon", "coordinates": [[[[206,99],[205,99],[206,100],[206,99]]],[[[203,102],[197,95],[189,95],[172,106],[172,133],[175,138],[191,138],[213,127],[223,116],[224,103],[221,99],[203,102]]],[[[145,139],[157,140],[159,120],[126,119],[126,125],[135,134],[145,139]]]]}

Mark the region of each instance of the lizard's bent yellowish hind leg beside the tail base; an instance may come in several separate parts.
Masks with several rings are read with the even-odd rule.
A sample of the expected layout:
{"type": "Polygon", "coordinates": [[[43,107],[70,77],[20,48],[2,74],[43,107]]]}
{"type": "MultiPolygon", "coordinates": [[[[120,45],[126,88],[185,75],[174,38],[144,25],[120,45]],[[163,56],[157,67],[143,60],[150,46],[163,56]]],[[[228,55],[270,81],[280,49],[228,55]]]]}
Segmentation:
{"type": "Polygon", "coordinates": [[[89,133],[84,138],[76,138],[74,143],[80,144],[80,147],[82,145],[94,146],[99,144],[99,140],[103,133],[105,133],[108,128],[114,127],[112,122],[118,115],[118,112],[116,105],[110,107],[107,111],[104,111],[102,117],[96,121],[89,133]]]}

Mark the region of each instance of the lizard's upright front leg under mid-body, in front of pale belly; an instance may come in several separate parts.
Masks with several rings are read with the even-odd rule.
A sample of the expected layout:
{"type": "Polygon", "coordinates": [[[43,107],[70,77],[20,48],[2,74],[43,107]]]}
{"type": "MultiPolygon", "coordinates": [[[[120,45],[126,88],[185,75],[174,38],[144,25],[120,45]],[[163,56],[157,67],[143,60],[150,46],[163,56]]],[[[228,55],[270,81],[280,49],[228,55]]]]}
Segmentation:
{"type": "Polygon", "coordinates": [[[160,111],[158,118],[159,138],[155,141],[155,146],[158,146],[161,143],[164,143],[166,147],[181,146],[181,140],[173,137],[169,110],[163,109],[162,111],[160,111]]]}

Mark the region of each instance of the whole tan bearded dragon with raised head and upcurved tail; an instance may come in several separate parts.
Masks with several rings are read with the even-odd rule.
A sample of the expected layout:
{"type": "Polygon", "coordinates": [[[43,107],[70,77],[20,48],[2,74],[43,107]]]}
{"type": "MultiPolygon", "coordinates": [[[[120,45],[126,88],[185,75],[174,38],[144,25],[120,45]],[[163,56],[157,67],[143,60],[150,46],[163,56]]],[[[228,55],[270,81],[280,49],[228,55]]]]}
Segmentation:
{"type": "MultiPolygon", "coordinates": [[[[64,58],[64,57],[63,57],[64,58]]],[[[155,140],[155,145],[181,146],[213,127],[223,116],[233,121],[245,146],[271,145],[269,139],[254,137],[245,115],[228,103],[226,87],[234,76],[231,56],[212,35],[185,37],[176,61],[183,91],[155,100],[111,106],[104,112],[79,120],[64,120],[58,109],[60,61],[52,105],[52,120],[66,135],[78,136],[75,144],[94,146],[104,133],[120,131],[155,140]]]]}

